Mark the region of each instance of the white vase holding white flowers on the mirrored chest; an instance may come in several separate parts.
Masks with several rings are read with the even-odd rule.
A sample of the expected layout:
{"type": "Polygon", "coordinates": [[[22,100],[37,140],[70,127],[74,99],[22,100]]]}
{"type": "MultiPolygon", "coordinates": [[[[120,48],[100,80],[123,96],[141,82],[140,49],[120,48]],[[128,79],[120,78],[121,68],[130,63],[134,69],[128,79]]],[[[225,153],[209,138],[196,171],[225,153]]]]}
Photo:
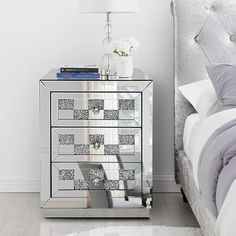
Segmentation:
{"type": "Polygon", "coordinates": [[[116,72],[119,78],[131,78],[133,75],[133,59],[132,56],[121,57],[116,56],[116,72]]]}

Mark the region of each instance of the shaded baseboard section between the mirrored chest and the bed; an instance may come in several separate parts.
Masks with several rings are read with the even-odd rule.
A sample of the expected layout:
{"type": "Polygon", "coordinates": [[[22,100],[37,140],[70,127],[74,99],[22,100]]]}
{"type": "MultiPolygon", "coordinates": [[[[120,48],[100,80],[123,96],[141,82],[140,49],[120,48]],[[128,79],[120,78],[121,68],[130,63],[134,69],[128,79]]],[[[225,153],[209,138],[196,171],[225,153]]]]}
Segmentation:
{"type": "Polygon", "coordinates": [[[175,193],[180,192],[180,187],[175,183],[174,175],[154,175],[154,193],[175,193]]]}

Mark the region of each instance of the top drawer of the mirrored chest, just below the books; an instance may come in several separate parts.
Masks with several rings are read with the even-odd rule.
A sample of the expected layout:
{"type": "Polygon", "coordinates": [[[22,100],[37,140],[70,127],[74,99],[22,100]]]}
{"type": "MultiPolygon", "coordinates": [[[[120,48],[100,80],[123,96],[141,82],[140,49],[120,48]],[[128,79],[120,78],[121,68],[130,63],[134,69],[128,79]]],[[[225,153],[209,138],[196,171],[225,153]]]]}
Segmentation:
{"type": "Polygon", "coordinates": [[[140,127],[141,93],[52,93],[51,125],[140,127]]]}

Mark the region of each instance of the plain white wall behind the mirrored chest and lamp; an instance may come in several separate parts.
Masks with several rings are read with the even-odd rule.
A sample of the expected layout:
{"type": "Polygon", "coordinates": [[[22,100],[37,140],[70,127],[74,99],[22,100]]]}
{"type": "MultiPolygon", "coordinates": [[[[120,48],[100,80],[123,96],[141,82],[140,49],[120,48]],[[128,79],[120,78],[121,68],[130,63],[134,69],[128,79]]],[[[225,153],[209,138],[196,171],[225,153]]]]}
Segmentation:
{"type": "MultiPolygon", "coordinates": [[[[98,1],[98,0],[97,0],[98,1]]],[[[155,80],[155,178],[173,187],[170,0],[140,0],[114,15],[114,37],[141,42],[135,66],[155,80]]],[[[0,7],[0,191],[39,190],[39,79],[64,64],[99,63],[104,15],[77,14],[76,0],[8,0],[0,7]]]]}

